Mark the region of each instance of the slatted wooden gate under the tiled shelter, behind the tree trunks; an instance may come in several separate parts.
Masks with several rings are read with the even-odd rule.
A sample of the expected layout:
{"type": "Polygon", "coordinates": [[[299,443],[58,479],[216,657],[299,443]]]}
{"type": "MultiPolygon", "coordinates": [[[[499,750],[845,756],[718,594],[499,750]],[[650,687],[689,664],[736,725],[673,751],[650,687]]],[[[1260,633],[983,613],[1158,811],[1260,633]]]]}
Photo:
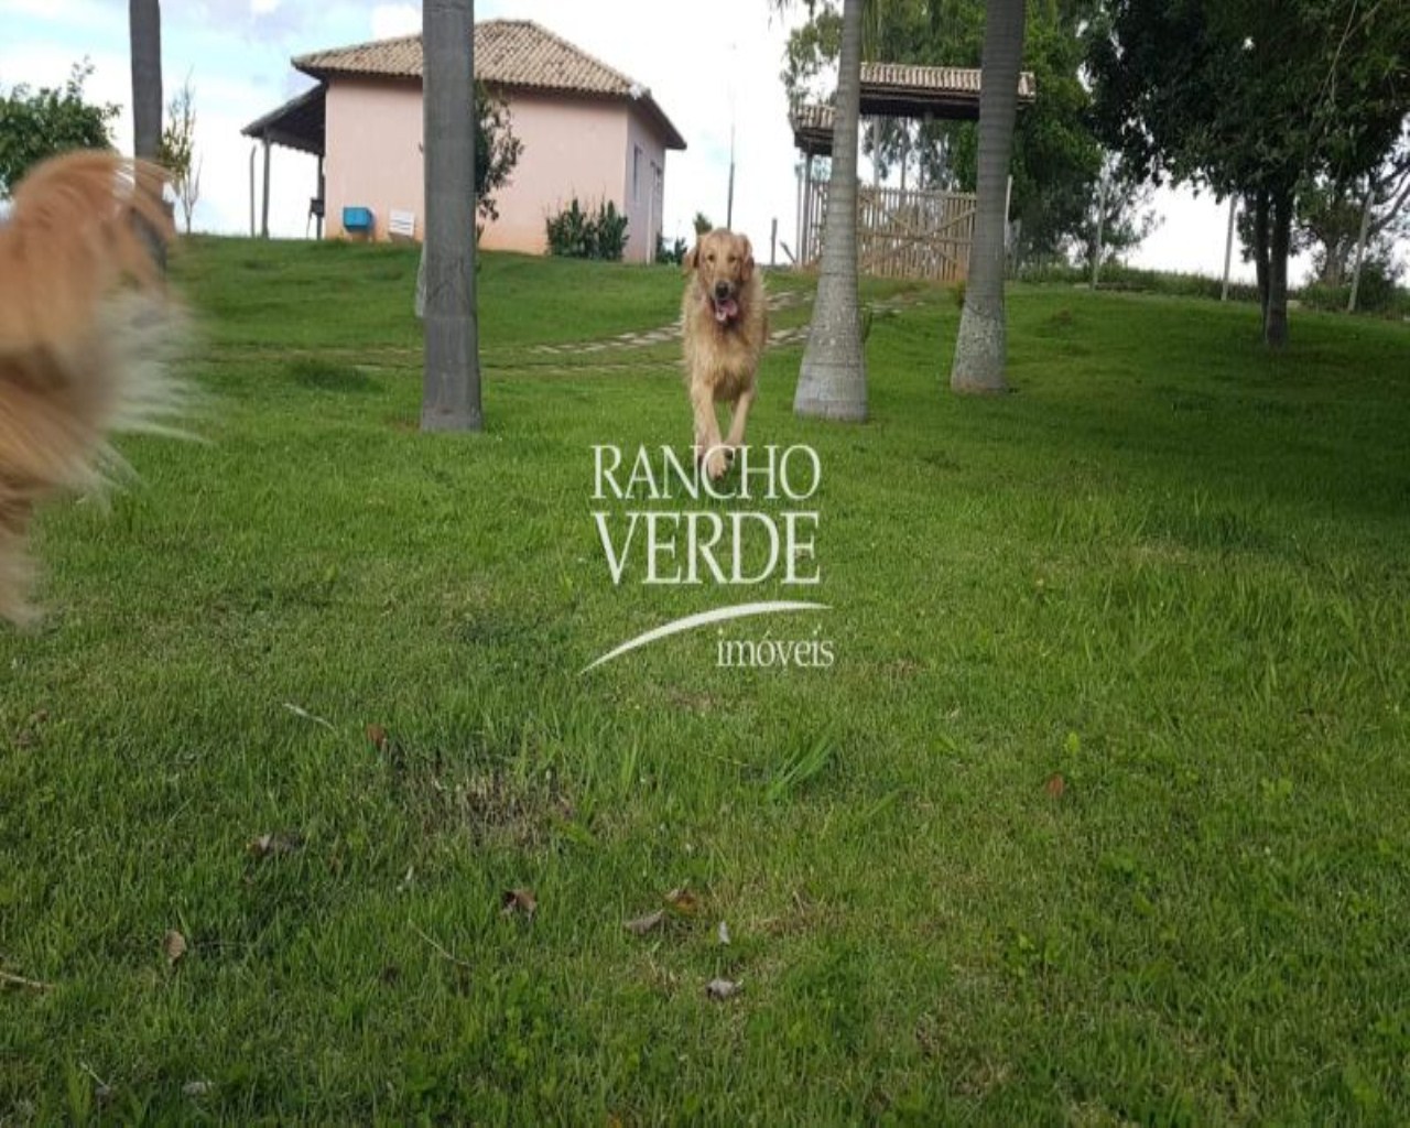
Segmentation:
{"type": "MultiPolygon", "coordinates": [[[[826,180],[815,180],[805,195],[801,261],[815,264],[828,212],[826,180]]],[[[859,186],[857,268],[880,278],[957,282],[969,274],[974,210],[973,193],[859,186]]]]}

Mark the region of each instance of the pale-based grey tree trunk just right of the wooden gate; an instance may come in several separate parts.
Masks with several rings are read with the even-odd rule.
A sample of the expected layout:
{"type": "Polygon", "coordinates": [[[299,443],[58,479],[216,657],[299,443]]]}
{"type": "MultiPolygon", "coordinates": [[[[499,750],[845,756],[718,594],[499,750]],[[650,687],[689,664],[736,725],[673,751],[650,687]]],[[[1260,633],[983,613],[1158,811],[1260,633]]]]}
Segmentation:
{"type": "Polygon", "coordinates": [[[1008,227],[1008,165],[1018,111],[1018,65],[1024,54],[1024,0],[988,0],[979,94],[979,212],[964,312],[950,368],[956,392],[1007,392],[1004,235],[1008,227]]]}

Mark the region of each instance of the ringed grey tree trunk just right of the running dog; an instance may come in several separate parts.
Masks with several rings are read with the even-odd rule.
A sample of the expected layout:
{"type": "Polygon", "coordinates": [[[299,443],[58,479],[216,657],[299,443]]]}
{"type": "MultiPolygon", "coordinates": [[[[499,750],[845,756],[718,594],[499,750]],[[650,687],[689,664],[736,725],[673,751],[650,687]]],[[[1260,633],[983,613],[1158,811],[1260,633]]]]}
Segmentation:
{"type": "Polygon", "coordinates": [[[867,417],[867,362],[857,310],[857,114],[862,104],[862,7],[842,7],[842,59],[832,134],[832,176],[822,228],[818,298],[798,372],[794,412],[821,419],[867,417]]]}

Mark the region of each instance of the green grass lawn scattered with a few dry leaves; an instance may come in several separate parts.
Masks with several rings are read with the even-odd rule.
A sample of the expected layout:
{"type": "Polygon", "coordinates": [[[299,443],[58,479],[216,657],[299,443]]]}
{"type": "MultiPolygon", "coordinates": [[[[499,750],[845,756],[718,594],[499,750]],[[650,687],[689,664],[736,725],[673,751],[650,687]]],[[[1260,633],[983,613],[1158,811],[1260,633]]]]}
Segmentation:
{"type": "Polygon", "coordinates": [[[821,585],[613,587],[592,444],[689,413],[581,345],[675,271],[484,255],[488,430],[422,436],[413,252],[173,269],[207,441],[47,510],[0,632],[0,1124],[1410,1117],[1406,326],[1018,288],[960,399],[949,292],[869,283],[871,420],[794,344],[752,426],[821,585]],[[783,598],[725,637],[830,668],[580,674],[783,598]]]}

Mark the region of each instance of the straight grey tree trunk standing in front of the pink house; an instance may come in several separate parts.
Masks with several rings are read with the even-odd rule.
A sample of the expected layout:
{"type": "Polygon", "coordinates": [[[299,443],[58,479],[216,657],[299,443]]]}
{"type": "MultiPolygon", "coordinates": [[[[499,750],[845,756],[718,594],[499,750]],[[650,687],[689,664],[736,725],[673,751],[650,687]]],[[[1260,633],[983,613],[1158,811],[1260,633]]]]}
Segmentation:
{"type": "Polygon", "coordinates": [[[474,0],[423,0],[426,376],[423,431],[478,431],[474,0]]]}

